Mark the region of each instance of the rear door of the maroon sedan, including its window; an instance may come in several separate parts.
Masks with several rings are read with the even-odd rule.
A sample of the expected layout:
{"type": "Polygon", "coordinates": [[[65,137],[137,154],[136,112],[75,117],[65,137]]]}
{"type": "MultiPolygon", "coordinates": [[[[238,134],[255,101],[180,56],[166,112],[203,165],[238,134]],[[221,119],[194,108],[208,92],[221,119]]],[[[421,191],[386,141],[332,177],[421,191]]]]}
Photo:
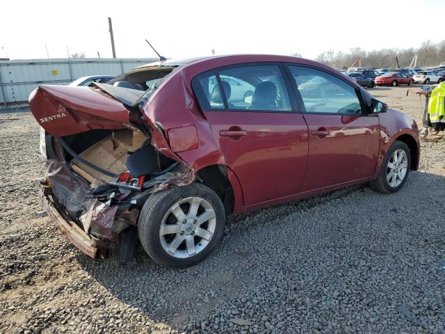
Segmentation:
{"type": "Polygon", "coordinates": [[[192,82],[225,164],[241,183],[244,205],[298,193],[304,179],[307,125],[283,68],[223,67],[192,82]]]}

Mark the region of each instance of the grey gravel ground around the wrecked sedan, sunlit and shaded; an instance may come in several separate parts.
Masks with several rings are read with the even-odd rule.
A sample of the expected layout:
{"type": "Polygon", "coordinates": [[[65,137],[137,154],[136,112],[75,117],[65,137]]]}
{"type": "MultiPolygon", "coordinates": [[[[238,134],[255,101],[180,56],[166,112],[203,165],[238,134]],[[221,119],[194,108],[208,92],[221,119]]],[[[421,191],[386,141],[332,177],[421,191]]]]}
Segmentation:
{"type": "MultiPolygon", "coordinates": [[[[373,94],[420,121],[406,88],[373,94]]],[[[186,270],[90,260],[40,217],[38,126],[0,114],[0,333],[445,333],[445,138],[368,187],[229,217],[186,270]]]]}

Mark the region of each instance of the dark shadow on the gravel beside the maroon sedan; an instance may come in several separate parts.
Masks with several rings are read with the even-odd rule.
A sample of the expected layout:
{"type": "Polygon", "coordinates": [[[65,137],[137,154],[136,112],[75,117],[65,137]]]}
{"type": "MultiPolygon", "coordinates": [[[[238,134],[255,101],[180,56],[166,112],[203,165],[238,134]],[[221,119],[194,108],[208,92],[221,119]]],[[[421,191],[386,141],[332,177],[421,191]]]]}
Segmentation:
{"type": "Polygon", "coordinates": [[[188,269],[143,250],[125,265],[77,261],[113,298],[179,331],[443,329],[444,185],[414,172],[396,194],[358,186],[230,216],[220,246],[188,269]]]}

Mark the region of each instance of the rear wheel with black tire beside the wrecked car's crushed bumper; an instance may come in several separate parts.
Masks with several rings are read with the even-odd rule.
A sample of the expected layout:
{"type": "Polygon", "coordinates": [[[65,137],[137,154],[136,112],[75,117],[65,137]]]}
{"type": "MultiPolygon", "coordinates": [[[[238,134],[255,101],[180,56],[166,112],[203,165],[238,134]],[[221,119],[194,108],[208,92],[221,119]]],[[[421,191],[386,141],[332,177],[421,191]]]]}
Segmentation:
{"type": "Polygon", "coordinates": [[[209,187],[195,182],[150,196],[140,212],[138,234],[140,244],[154,262],[168,268],[185,268],[204,260],[216,248],[224,225],[223,202],[209,187]],[[194,215],[192,203],[197,203],[194,215]],[[206,217],[209,218],[205,220],[206,217]],[[172,233],[165,233],[167,229],[172,233]]]}

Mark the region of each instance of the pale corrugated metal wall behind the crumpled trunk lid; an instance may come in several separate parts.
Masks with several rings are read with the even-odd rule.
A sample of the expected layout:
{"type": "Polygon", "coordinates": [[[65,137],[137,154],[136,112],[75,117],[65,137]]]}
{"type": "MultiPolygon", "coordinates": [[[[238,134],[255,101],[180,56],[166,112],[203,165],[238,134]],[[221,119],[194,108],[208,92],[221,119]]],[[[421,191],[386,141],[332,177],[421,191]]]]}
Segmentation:
{"type": "Polygon", "coordinates": [[[24,106],[40,84],[65,85],[87,75],[113,75],[157,58],[29,59],[0,61],[0,109],[24,106]]]}

